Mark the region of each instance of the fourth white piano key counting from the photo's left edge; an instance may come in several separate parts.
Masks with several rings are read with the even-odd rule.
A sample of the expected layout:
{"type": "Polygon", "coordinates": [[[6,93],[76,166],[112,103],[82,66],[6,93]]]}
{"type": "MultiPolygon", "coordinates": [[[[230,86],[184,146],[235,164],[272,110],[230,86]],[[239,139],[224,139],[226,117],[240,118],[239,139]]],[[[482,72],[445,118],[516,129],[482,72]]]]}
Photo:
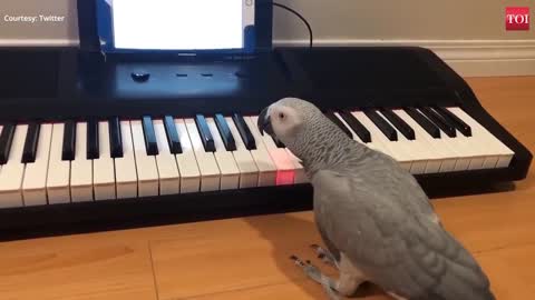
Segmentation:
{"type": "Polygon", "coordinates": [[[87,123],[76,124],[75,160],[70,162],[72,202],[93,201],[93,161],[87,159],[87,123]]]}

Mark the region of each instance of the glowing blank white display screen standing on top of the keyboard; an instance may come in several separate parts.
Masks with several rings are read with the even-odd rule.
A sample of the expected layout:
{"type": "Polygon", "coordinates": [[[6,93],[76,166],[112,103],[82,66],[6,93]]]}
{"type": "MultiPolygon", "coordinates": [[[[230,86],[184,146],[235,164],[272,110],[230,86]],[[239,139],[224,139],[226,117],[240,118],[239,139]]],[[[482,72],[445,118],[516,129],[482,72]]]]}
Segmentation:
{"type": "Polygon", "coordinates": [[[243,0],[113,0],[117,49],[243,48],[243,0]]]}

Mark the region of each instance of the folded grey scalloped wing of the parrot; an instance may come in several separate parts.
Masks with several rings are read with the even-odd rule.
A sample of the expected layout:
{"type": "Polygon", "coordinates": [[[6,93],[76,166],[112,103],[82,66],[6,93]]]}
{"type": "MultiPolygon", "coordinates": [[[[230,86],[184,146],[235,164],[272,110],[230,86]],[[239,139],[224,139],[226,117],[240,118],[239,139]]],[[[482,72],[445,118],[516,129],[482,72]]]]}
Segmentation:
{"type": "Polygon", "coordinates": [[[408,299],[494,299],[477,262],[419,204],[335,171],[312,181],[318,226],[371,281],[408,299]]]}

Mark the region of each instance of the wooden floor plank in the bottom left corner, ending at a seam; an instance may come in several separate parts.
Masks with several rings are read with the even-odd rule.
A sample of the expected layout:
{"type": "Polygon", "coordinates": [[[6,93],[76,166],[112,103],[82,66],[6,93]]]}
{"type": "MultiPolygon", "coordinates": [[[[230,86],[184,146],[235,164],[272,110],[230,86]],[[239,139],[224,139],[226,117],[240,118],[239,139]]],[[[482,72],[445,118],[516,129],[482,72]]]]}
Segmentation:
{"type": "Polygon", "coordinates": [[[88,234],[1,243],[0,253],[0,299],[156,299],[147,242],[88,234]]]}

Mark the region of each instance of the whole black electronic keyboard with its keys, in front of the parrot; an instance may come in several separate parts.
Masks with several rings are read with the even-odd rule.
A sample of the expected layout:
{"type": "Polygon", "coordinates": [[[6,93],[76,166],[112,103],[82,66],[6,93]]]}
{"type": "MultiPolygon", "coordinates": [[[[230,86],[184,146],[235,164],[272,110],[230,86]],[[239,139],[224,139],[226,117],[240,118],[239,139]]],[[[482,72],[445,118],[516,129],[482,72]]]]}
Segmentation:
{"type": "Polygon", "coordinates": [[[522,180],[529,151],[422,48],[276,48],[253,57],[0,50],[2,240],[308,210],[299,158],[256,127],[315,103],[432,197],[522,180]]]}

